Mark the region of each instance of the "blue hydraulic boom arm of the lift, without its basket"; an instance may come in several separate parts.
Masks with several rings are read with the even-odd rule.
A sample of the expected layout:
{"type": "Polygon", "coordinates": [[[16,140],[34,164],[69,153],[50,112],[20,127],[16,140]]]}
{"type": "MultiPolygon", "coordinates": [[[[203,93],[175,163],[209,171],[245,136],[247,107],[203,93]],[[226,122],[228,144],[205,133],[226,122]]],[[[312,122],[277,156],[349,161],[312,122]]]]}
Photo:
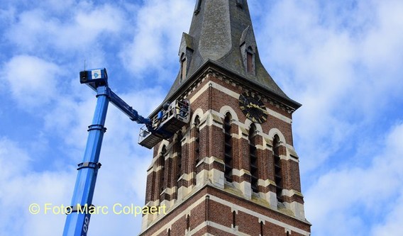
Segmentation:
{"type": "Polygon", "coordinates": [[[84,157],[78,164],[78,173],[74,193],[72,197],[71,212],[67,213],[63,236],[85,236],[88,232],[89,219],[91,218],[92,197],[96,183],[96,176],[101,167],[99,154],[101,152],[102,139],[106,128],[104,123],[108,111],[109,101],[125,113],[131,120],[150,126],[150,119],[138,115],[138,112],[119,98],[108,86],[106,69],[92,69],[80,72],[80,82],[94,89],[96,94],[96,108],[92,125],[89,125],[87,147],[84,157]]]}

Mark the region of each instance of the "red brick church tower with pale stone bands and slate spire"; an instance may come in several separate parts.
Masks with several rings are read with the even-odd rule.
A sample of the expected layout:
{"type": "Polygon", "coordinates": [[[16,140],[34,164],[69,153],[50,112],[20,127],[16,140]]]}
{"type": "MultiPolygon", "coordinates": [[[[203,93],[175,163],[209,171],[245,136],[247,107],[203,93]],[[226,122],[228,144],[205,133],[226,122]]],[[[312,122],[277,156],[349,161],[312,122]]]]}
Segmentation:
{"type": "Polygon", "coordinates": [[[179,58],[162,104],[187,99],[191,120],[154,147],[145,204],[166,213],[143,215],[140,235],[310,235],[292,140],[301,104],[260,62],[247,1],[197,0],[179,58]]]}

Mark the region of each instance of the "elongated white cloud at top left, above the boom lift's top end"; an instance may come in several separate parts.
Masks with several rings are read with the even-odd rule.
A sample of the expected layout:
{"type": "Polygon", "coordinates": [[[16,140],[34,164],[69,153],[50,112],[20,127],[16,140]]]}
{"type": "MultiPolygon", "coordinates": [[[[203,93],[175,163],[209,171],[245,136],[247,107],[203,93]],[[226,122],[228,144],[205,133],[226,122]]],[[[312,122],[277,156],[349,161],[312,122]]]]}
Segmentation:
{"type": "Polygon", "coordinates": [[[31,52],[51,48],[64,52],[100,50],[94,44],[120,32],[126,23],[124,12],[109,4],[94,6],[82,2],[65,7],[56,16],[52,13],[45,6],[21,12],[6,37],[20,50],[31,52]]]}

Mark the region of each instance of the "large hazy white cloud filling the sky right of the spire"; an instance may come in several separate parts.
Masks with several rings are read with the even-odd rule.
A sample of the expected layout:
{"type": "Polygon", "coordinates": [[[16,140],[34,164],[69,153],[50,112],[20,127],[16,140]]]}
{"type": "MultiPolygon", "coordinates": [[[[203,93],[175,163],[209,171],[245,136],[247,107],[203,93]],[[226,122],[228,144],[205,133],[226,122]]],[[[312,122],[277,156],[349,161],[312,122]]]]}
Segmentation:
{"type": "Polygon", "coordinates": [[[303,105],[294,113],[299,154],[310,157],[302,162],[303,173],[329,159],[346,137],[359,135],[382,109],[402,101],[397,68],[403,57],[396,53],[403,50],[401,8],[397,1],[346,8],[334,1],[288,0],[262,13],[260,55],[280,87],[303,105]]]}

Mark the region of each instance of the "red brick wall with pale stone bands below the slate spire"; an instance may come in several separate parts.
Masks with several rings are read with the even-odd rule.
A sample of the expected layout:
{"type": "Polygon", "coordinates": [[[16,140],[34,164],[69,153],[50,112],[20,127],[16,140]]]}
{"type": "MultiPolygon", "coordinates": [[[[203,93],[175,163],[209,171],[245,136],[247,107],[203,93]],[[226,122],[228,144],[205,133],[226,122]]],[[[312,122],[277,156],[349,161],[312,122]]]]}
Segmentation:
{"type": "Polygon", "coordinates": [[[258,131],[253,139],[257,147],[259,185],[258,193],[250,191],[248,129],[251,122],[239,108],[238,96],[253,89],[245,88],[247,87],[236,84],[225,75],[210,70],[195,79],[192,88],[187,88],[187,92],[182,94],[182,99],[191,101],[192,122],[182,128],[182,139],[175,135],[172,140],[162,141],[155,146],[153,165],[148,170],[147,178],[145,203],[149,206],[165,203],[170,213],[160,216],[145,215],[141,235],[167,235],[168,230],[170,235],[185,235],[185,232],[188,235],[204,235],[207,232],[211,235],[259,235],[263,229],[263,235],[277,236],[286,235],[289,230],[287,227],[294,229],[289,231],[292,232],[291,235],[307,235],[309,223],[303,213],[299,159],[292,147],[292,114],[277,101],[273,101],[272,97],[259,93],[256,93],[257,96],[261,97],[270,113],[265,123],[255,124],[258,131]],[[231,113],[233,119],[232,183],[223,178],[223,120],[226,112],[231,113]],[[195,116],[200,121],[198,134],[194,124],[195,116]],[[279,154],[282,187],[285,189],[282,196],[285,204],[278,206],[275,197],[273,134],[278,135],[281,140],[279,154]],[[162,145],[167,149],[164,155],[160,152],[162,145]],[[181,155],[180,169],[177,169],[178,153],[181,155]],[[197,157],[199,162],[196,162],[197,157]],[[163,183],[160,183],[160,179],[163,179],[163,183]],[[209,201],[201,199],[206,194],[211,194],[209,201]],[[233,227],[231,207],[213,201],[214,197],[232,203],[233,208],[253,210],[258,216],[238,210],[237,225],[233,227]],[[199,205],[192,205],[196,201],[200,201],[199,205]],[[189,215],[190,231],[186,228],[188,216],[181,216],[183,213],[189,215]],[[259,215],[266,220],[260,219],[259,215]],[[269,218],[276,223],[272,223],[269,218]],[[162,227],[166,227],[166,230],[158,232],[162,227]],[[298,231],[301,230],[304,234],[299,234],[298,231]]]}

